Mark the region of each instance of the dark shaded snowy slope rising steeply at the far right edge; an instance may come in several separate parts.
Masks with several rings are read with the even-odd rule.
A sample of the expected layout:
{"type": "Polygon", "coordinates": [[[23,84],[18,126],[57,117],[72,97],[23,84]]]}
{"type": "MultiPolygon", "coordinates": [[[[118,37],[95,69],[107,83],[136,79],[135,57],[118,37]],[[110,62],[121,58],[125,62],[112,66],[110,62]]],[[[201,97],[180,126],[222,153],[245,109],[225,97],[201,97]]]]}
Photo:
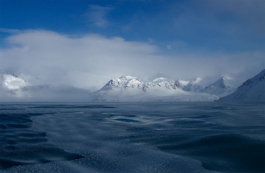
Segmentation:
{"type": "Polygon", "coordinates": [[[238,89],[218,101],[223,102],[264,102],[265,101],[265,69],[251,79],[245,81],[238,89]]]}

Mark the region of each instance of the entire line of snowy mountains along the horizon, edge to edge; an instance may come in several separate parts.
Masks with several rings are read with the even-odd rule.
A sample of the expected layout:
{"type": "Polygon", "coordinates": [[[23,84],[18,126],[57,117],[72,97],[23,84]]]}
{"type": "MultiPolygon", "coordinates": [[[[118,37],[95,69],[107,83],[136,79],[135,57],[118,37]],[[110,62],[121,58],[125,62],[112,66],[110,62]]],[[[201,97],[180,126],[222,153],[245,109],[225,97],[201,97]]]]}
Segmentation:
{"type": "MultiPolygon", "coordinates": [[[[265,101],[265,72],[245,81],[240,87],[235,79],[222,76],[210,85],[204,85],[202,78],[192,81],[156,78],[152,82],[142,82],[133,76],[122,76],[110,80],[100,90],[89,93],[92,101],[265,101]]],[[[18,76],[1,74],[1,95],[3,92],[17,98],[30,98],[45,87],[32,84],[18,76]]],[[[46,86],[47,89],[47,86],[46,86]]],[[[67,91],[65,91],[67,92],[67,91]]],[[[65,93],[60,90],[60,93],[65,93]]],[[[71,90],[71,94],[74,91],[71,90]]],[[[83,93],[84,91],[78,91],[83,93]]],[[[77,93],[77,92],[76,92],[77,93]]],[[[83,94],[82,94],[83,95],[83,94]]],[[[89,101],[89,99],[87,100],[89,101]]]]}

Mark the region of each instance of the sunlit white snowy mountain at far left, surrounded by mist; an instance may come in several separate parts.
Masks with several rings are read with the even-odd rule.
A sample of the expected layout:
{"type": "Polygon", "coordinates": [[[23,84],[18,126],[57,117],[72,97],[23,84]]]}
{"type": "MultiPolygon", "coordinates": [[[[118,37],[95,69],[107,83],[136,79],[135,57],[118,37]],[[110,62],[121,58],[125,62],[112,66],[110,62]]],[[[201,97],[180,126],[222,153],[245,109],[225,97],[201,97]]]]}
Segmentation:
{"type": "Polygon", "coordinates": [[[10,74],[2,73],[1,75],[1,90],[17,97],[28,97],[29,93],[26,91],[31,86],[30,82],[10,74]]]}

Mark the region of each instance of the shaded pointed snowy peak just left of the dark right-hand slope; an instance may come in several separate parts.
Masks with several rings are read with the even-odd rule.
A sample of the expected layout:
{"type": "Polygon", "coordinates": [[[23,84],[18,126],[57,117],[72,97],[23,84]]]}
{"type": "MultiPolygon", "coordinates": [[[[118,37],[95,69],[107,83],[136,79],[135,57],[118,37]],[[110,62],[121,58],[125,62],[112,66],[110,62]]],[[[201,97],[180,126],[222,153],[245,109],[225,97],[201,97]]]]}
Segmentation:
{"type": "Polygon", "coordinates": [[[206,86],[200,92],[208,93],[212,95],[220,95],[225,96],[231,94],[236,90],[234,85],[234,79],[230,76],[222,76],[220,79],[215,81],[214,83],[206,86]]]}

